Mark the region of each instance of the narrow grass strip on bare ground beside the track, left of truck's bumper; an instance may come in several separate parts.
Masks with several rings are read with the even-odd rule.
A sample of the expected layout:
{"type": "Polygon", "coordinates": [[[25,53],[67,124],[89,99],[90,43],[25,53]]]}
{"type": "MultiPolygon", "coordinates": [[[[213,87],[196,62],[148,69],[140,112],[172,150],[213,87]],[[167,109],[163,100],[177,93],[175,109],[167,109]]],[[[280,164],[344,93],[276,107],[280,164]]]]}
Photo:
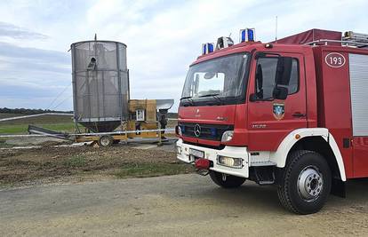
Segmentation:
{"type": "Polygon", "coordinates": [[[118,178],[144,178],[177,175],[193,171],[190,165],[182,163],[126,163],[115,175],[118,178]]]}

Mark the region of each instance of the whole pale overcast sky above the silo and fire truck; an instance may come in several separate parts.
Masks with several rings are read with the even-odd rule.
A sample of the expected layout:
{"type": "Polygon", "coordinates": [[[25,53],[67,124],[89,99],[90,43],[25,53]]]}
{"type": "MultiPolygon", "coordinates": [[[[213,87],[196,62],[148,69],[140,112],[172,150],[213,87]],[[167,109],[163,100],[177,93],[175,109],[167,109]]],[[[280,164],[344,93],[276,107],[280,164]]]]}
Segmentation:
{"type": "Polygon", "coordinates": [[[279,38],[310,28],[368,33],[367,9],[367,0],[1,1],[0,107],[72,110],[68,49],[97,33],[128,45],[132,99],[175,99],[176,110],[202,43],[230,33],[238,42],[240,28],[269,42],[276,15],[279,38]]]}

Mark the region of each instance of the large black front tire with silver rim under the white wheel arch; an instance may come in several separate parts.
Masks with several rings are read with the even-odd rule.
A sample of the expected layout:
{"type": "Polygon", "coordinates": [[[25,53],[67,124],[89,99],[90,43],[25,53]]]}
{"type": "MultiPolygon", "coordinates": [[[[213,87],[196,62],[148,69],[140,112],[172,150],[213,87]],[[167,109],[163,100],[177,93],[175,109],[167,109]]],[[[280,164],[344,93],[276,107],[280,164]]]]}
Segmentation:
{"type": "Polygon", "coordinates": [[[292,153],[278,180],[281,204],[297,214],[316,213],[324,207],[331,192],[330,167],[321,154],[312,151],[292,153]]]}

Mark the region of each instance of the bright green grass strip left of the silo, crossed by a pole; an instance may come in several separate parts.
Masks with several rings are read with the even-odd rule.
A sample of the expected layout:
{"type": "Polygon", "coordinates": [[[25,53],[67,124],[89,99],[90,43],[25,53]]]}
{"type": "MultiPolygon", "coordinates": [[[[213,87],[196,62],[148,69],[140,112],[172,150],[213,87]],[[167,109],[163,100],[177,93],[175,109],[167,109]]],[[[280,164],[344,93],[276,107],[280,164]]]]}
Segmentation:
{"type": "MultiPolygon", "coordinates": [[[[57,130],[65,132],[73,132],[75,128],[73,122],[36,124],[36,126],[48,130],[57,130]]],[[[0,124],[0,134],[27,134],[27,133],[28,133],[28,124],[0,124]]]]}

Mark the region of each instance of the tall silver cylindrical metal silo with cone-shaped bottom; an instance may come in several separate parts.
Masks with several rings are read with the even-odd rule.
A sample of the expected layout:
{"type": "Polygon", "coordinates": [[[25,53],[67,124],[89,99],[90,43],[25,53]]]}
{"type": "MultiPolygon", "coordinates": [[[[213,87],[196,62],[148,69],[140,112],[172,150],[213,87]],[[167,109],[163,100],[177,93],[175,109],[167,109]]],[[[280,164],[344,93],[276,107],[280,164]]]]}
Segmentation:
{"type": "Polygon", "coordinates": [[[71,44],[75,121],[94,132],[115,130],[128,118],[126,45],[112,41],[71,44]]]}

